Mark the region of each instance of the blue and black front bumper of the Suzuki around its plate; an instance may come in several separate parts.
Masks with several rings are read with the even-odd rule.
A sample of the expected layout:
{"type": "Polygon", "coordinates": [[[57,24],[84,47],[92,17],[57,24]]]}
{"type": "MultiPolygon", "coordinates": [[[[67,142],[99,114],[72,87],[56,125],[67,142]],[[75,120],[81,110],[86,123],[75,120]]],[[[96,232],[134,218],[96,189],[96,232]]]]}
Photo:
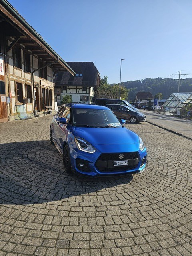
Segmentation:
{"type": "Polygon", "coordinates": [[[146,148],[138,152],[100,153],[96,151],[93,154],[73,148],[71,152],[71,166],[74,173],[82,176],[120,176],[143,172],[146,168],[146,156],[146,148]],[[112,166],[113,161],[120,160],[116,158],[114,154],[119,155],[121,153],[126,157],[124,160],[128,160],[128,166],[112,166]],[[101,158],[101,156],[107,154],[110,155],[108,158],[101,158]],[[84,165],[83,167],[80,166],[82,164],[84,165]]]}

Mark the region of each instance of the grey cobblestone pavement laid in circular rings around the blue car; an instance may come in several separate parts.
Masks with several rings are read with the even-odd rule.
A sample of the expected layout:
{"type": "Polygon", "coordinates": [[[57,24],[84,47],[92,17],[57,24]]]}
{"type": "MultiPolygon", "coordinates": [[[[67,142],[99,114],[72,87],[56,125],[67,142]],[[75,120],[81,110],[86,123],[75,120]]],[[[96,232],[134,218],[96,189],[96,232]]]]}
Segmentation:
{"type": "Polygon", "coordinates": [[[0,124],[0,256],[192,255],[192,141],[127,123],[148,149],[142,174],[66,174],[51,116],[0,124]]]}

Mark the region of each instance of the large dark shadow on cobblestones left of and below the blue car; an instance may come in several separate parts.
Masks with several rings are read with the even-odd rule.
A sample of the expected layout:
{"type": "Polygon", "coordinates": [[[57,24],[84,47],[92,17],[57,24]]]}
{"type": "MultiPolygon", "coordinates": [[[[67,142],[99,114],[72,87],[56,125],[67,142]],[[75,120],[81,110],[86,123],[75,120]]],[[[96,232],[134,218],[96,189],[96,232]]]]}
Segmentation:
{"type": "Polygon", "coordinates": [[[67,174],[62,162],[47,140],[0,144],[0,204],[62,200],[132,180],[132,175],[91,179],[67,174]]]}

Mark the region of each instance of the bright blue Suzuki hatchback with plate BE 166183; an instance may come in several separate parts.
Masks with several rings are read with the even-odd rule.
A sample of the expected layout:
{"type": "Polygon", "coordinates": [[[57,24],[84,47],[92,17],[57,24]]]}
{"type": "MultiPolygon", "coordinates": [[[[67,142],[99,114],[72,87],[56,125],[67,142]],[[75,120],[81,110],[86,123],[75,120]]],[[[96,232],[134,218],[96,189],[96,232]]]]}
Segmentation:
{"type": "Polygon", "coordinates": [[[62,105],[50,124],[50,142],[62,154],[67,173],[96,177],[143,172],[146,148],[124,123],[105,106],[62,105]]]}

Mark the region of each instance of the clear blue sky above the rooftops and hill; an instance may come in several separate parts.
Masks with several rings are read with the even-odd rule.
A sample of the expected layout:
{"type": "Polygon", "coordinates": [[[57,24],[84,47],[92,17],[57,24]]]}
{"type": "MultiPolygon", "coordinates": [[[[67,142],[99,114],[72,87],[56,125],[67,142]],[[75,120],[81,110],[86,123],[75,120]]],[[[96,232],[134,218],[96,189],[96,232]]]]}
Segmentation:
{"type": "Polygon", "coordinates": [[[122,82],[192,74],[191,0],[9,2],[65,61],[92,61],[109,83],[121,58],[122,82]]]}

